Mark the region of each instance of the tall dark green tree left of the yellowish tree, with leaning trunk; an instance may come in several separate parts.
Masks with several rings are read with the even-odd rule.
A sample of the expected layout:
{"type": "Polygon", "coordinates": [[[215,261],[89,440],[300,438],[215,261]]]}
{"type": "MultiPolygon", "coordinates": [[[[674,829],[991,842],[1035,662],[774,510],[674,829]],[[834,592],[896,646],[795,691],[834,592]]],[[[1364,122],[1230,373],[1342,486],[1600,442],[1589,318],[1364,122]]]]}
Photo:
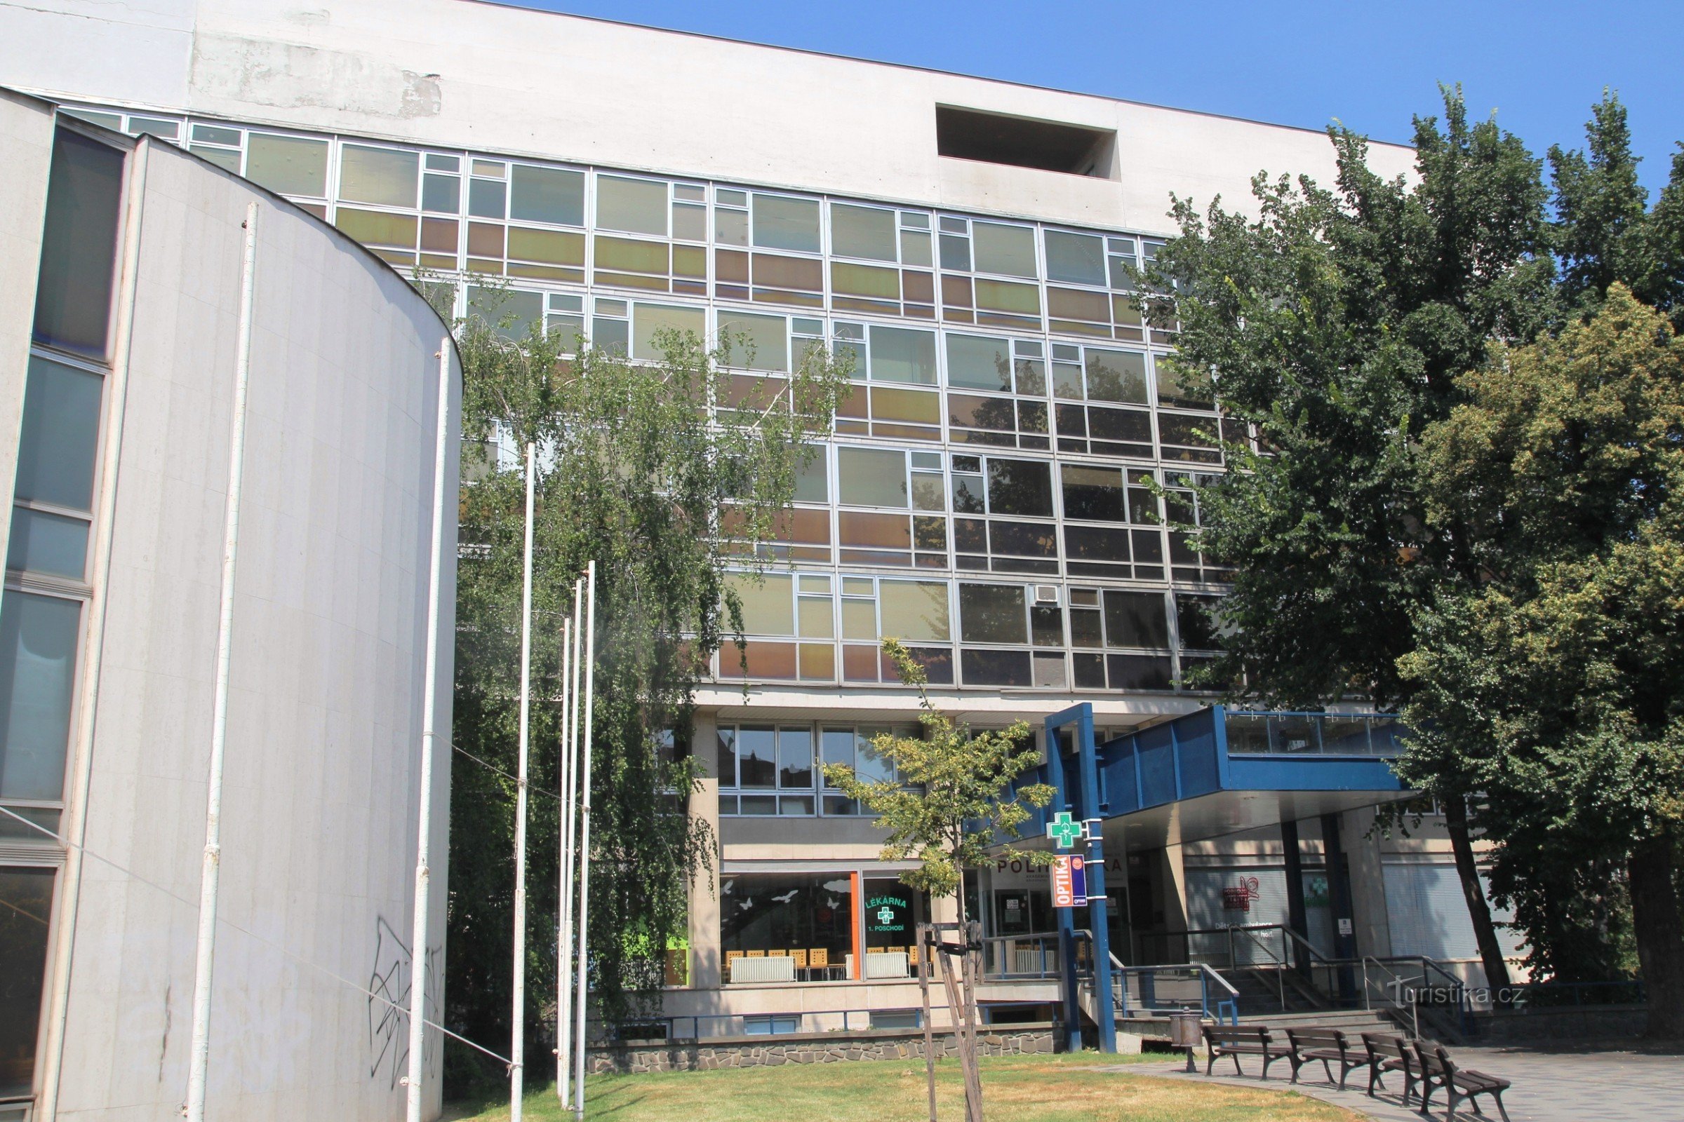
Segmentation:
{"type": "MultiPolygon", "coordinates": [[[[1415,612],[1477,574],[1430,527],[1415,481],[1421,431],[1490,340],[1554,316],[1541,161],[1445,91],[1443,126],[1416,118],[1416,177],[1383,178],[1366,141],[1329,135],[1337,185],[1253,182],[1260,215],[1175,200],[1180,236],[1147,273],[1147,311],[1179,320],[1184,382],[1214,375],[1229,471],[1199,488],[1196,545],[1234,567],[1226,653],[1207,671],[1266,703],[1315,708],[1411,696],[1398,658],[1415,612]],[[1238,422],[1238,424],[1236,424],[1238,422]]],[[[1489,977],[1507,972],[1474,873],[1460,792],[1447,806],[1489,977]]]]}

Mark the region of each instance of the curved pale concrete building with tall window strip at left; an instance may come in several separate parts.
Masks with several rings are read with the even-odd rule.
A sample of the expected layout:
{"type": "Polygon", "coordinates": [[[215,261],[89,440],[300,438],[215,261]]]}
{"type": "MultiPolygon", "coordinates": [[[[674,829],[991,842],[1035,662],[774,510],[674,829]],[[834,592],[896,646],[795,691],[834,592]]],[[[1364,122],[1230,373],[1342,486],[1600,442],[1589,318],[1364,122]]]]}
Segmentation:
{"type": "Polygon", "coordinates": [[[249,222],[207,1102],[389,1119],[409,986],[441,986],[443,892],[409,942],[448,328],[153,136],[0,91],[0,1119],[182,1110],[249,222]]]}

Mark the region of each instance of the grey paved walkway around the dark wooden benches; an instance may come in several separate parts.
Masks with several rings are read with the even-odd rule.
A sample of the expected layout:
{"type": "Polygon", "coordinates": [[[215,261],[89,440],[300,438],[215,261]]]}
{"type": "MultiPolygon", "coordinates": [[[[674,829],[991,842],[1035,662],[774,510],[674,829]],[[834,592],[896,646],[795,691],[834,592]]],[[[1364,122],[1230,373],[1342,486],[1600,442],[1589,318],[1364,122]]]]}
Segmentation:
{"type": "MultiPolygon", "coordinates": [[[[1677,1051],[1644,1050],[1640,1046],[1553,1046],[1553,1048],[1457,1048],[1452,1053],[1458,1063],[1511,1080],[1514,1087],[1502,1095],[1502,1103],[1509,1109],[1511,1122],[1671,1122],[1684,1119],[1684,1055],[1677,1051]]],[[[1204,1061],[1199,1061],[1201,1075],[1182,1072],[1186,1061],[1174,1065],[1128,1063],[1116,1065],[1116,1072],[1133,1072],[1137,1075],[1167,1075],[1184,1080],[1202,1080],[1204,1061]]],[[[1218,1073],[1212,1077],[1223,1083],[1256,1087],[1256,1060],[1243,1058],[1250,1078],[1233,1077],[1233,1061],[1228,1061],[1229,1075],[1221,1075],[1223,1061],[1218,1061],[1218,1073]]],[[[1367,1087],[1367,1072],[1351,1073],[1347,1087],[1340,1092],[1327,1083],[1310,1082],[1310,1066],[1305,1066],[1305,1082],[1297,1090],[1330,1102],[1347,1110],[1359,1110],[1379,1122],[1421,1122],[1415,1109],[1404,1109],[1398,1102],[1403,1085],[1398,1077],[1388,1077],[1391,1095],[1369,1098],[1362,1093],[1367,1087]]],[[[1320,1066],[1315,1068],[1320,1073],[1320,1066]]],[[[1271,1087],[1287,1087],[1290,1068],[1285,1060],[1270,1065],[1271,1087]],[[1276,1078],[1276,1073],[1280,1077],[1276,1078]]],[[[1443,1092],[1433,1097],[1433,1119],[1443,1119],[1443,1092]]],[[[1482,1097],[1480,1107],[1495,1122],[1497,1112],[1490,1110],[1482,1097]]],[[[1477,1115],[1467,1107],[1457,1109],[1457,1120],[1467,1122],[1477,1115]]]]}

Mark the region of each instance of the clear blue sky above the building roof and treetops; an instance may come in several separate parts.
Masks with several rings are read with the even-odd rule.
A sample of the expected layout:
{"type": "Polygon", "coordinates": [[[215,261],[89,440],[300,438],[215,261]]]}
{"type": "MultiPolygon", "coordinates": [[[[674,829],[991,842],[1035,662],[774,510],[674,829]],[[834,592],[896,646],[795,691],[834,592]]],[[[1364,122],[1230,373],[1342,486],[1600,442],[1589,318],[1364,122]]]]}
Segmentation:
{"type": "Polygon", "coordinates": [[[1612,86],[1652,192],[1684,140],[1684,0],[505,2],[1376,140],[1462,82],[1537,155],[1581,146],[1612,86]]]}

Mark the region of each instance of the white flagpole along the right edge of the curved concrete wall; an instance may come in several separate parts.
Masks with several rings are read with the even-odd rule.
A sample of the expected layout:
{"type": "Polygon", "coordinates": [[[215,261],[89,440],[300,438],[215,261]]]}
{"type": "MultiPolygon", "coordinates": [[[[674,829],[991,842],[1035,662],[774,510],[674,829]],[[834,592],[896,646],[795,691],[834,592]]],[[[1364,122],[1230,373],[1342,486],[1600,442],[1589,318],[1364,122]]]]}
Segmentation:
{"type": "Polygon", "coordinates": [[[433,553],[426,585],[426,680],[421,683],[421,811],[416,826],[416,913],[409,930],[409,1075],[408,1122],[421,1122],[426,1043],[426,929],[433,903],[433,747],[438,728],[438,599],[445,560],[445,464],[450,459],[450,336],[438,343],[438,437],[433,444],[433,553]]]}

